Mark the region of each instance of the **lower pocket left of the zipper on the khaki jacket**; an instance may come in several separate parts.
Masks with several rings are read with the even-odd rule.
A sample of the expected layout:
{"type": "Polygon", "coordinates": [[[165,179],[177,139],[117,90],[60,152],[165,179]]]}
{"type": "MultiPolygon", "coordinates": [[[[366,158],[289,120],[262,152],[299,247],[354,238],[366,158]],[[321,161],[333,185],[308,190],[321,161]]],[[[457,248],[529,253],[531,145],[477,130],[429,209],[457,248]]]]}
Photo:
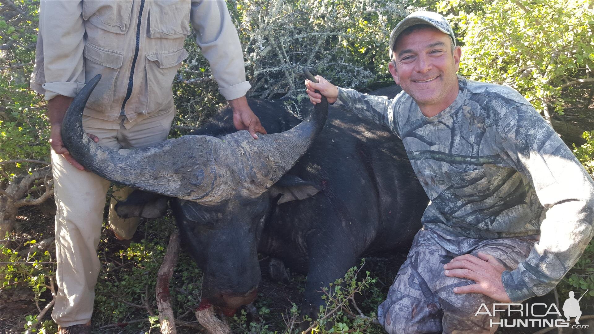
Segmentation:
{"type": "Polygon", "coordinates": [[[85,59],[85,81],[101,74],[101,80],[89,97],[86,108],[105,113],[113,101],[113,86],[119,68],[124,61],[124,55],[87,42],[84,46],[83,56],[85,59]]]}

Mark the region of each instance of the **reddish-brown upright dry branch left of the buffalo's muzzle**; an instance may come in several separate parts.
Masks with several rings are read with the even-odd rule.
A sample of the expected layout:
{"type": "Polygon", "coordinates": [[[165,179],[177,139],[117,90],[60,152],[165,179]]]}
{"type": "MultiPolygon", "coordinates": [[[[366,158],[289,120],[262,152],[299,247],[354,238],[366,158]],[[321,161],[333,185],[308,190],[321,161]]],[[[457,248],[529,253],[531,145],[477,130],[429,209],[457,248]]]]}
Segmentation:
{"type": "Polygon", "coordinates": [[[175,231],[169,238],[169,245],[165,253],[163,264],[157,274],[157,286],[155,288],[157,296],[157,307],[159,308],[159,323],[161,324],[161,333],[175,334],[175,317],[169,301],[169,280],[173,275],[173,269],[178,263],[179,256],[179,232],[175,231]]]}

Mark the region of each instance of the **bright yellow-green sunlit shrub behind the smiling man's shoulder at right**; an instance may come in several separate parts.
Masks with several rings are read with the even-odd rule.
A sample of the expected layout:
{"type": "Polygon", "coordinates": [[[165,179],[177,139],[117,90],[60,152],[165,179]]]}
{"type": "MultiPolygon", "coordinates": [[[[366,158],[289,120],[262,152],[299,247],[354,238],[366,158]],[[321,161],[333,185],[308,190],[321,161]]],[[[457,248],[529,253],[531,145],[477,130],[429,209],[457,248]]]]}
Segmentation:
{"type": "MultiPolygon", "coordinates": [[[[594,79],[594,11],[587,0],[443,0],[463,58],[460,73],[506,84],[546,115],[563,114],[594,79]]],[[[586,106],[587,107],[587,106],[586,106]]]]}

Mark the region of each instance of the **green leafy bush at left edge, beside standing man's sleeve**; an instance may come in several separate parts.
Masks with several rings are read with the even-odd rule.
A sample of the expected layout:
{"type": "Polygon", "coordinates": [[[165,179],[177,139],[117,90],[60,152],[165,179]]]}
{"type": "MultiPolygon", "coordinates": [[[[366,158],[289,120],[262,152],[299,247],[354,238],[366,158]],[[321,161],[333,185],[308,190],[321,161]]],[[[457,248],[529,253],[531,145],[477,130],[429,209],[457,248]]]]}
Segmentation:
{"type": "MultiPolygon", "coordinates": [[[[39,1],[14,1],[0,16],[0,162],[49,160],[49,128],[45,102],[29,89],[37,41],[39,1]]],[[[3,166],[0,184],[10,174],[26,171],[27,163],[3,166]]]]}

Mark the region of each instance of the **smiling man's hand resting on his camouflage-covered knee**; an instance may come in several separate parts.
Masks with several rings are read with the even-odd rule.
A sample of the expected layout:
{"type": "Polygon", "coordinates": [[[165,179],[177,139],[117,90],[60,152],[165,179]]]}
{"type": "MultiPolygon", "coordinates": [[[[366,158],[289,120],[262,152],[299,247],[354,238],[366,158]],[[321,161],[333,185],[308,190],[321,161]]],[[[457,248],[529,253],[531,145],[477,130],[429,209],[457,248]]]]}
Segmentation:
{"type": "Polygon", "coordinates": [[[505,267],[495,257],[481,252],[478,253],[478,257],[465,254],[444,264],[444,269],[445,276],[467,278],[476,282],[454,288],[456,294],[475,292],[502,303],[511,303],[501,282],[501,273],[505,271],[505,267]]]}

